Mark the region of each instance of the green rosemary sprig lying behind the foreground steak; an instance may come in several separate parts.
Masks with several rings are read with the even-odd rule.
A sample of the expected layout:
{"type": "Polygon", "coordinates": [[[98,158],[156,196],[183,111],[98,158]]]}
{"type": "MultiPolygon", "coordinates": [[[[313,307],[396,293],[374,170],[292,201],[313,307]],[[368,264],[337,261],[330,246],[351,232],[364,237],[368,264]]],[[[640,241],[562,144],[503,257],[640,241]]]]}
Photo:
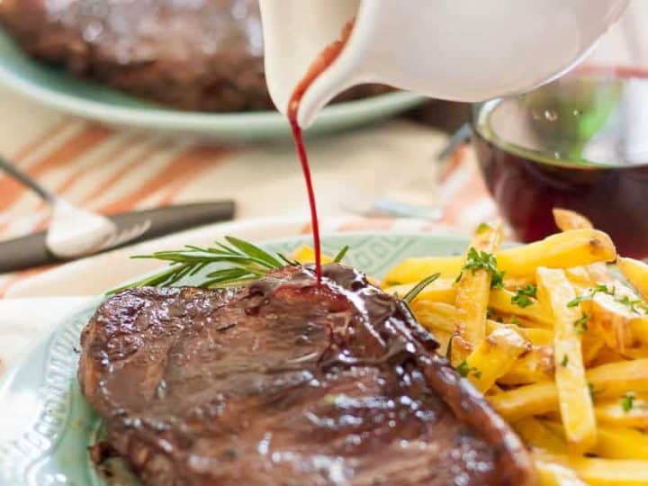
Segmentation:
{"type": "MultiPolygon", "coordinates": [[[[343,247],[335,261],[340,261],[347,254],[347,250],[348,246],[343,247]]],[[[226,266],[205,275],[205,279],[197,286],[213,288],[247,284],[276,268],[301,265],[281,253],[273,255],[248,241],[230,236],[225,237],[225,243],[216,242],[213,247],[186,245],[179,250],[158,251],[151,255],[137,255],[131,258],[162,260],[169,262],[169,266],[155,275],[112,289],[109,295],[134,287],[170,286],[185,276],[198,274],[205,266],[214,263],[226,266]]]]}

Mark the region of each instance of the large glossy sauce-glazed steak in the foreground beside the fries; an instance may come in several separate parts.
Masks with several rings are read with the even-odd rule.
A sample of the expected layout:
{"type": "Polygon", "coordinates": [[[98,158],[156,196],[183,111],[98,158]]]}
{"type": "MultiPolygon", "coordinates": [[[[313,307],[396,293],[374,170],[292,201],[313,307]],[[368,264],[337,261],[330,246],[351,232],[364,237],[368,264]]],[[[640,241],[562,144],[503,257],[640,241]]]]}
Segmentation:
{"type": "Polygon", "coordinates": [[[407,307],[355,270],[140,288],[86,326],[79,380],[146,484],[527,485],[518,437],[407,307]]]}

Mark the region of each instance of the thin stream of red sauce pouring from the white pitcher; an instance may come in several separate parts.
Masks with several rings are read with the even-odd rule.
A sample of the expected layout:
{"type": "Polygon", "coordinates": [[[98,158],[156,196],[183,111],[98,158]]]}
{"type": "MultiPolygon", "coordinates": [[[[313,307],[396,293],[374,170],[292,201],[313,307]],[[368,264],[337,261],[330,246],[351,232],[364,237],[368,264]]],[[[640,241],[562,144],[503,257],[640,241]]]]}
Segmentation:
{"type": "Polygon", "coordinates": [[[313,235],[313,247],[315,249],[315,273],[317,275],[318,285],[321,284],[321,242],[320,242],[320,220],[318,219],[317,211],[317,202],[315,199],[315,189],[313,188],[312,178],[311,178],[311,166],[309,165],[308,154],[306,153],[306,146],[303,142],[302,137],[302,127],[300,127],[299,122],[297,121],[297,113],[299,112],[299,106],[302,102],[302,96],[312,84],[315,79],[322,72],[326,70],[331,63],[338,58],[342,49],[347,44],[347,40],[353,31],[354,20],[347,22],[342,29],[342,33],[338,40],[335,40],[329,46],[324,48],[320,55],[313,60],[311,66],[309,66],[306,74],[302,77],[302,80],[295,86],[293,94],[291,95],[290,102],[288,103],[288,121],[291,124],[293,129],[293,140],[295,144],[295,149],[297,150],[297,155],[300,158],[302,163],[302,172],[304,177],[304,182],[306,183],[306,190],[308,192],[309,205],[311,206],[311,229],[313,235]]]}

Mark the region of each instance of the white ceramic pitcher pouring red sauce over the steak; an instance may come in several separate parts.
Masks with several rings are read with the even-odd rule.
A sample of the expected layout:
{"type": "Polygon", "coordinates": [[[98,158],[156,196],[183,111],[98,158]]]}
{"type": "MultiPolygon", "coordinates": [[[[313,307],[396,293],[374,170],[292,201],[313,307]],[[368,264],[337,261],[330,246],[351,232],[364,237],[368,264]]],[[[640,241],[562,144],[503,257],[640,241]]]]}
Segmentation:
{"type": "Polygon", "coordinates": [[[259,0],[270,94],[285,114],[311,61],[356,17],[347,45],[302,97],[307,127],[351,85],[446,100],[517,94],[573,67],[628,0],[259,0]]]}

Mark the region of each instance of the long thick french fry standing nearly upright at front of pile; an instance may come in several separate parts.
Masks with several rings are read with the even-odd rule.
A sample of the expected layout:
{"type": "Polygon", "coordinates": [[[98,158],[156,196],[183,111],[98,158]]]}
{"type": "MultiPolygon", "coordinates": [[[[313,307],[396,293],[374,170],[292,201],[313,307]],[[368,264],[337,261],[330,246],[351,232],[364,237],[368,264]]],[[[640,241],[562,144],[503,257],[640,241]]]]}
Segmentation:
{"type": "Polygon", "coordinates": [[[581,311],[568,306],[576,293],[562,269],[538,268],[536,282],[540,302],[554,313],[555,382],[565,437],[570,448],[582,453],[595,444],[597,427],[582,363],[581,336],[574,326],[581,311]]]}

